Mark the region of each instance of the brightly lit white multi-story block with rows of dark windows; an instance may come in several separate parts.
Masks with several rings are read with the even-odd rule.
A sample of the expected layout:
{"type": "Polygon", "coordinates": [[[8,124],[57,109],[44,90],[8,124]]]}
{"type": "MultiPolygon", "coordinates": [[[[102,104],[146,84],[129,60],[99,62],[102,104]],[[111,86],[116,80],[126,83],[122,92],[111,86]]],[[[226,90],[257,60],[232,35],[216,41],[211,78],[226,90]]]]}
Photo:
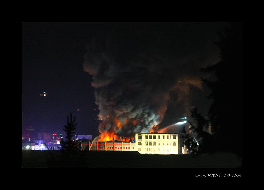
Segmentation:
{"type": "Polygon", "coordinates": [[[183,140],[179,134],[136,133],[135,150],[141,154],[182,154],[183,140]]]}

